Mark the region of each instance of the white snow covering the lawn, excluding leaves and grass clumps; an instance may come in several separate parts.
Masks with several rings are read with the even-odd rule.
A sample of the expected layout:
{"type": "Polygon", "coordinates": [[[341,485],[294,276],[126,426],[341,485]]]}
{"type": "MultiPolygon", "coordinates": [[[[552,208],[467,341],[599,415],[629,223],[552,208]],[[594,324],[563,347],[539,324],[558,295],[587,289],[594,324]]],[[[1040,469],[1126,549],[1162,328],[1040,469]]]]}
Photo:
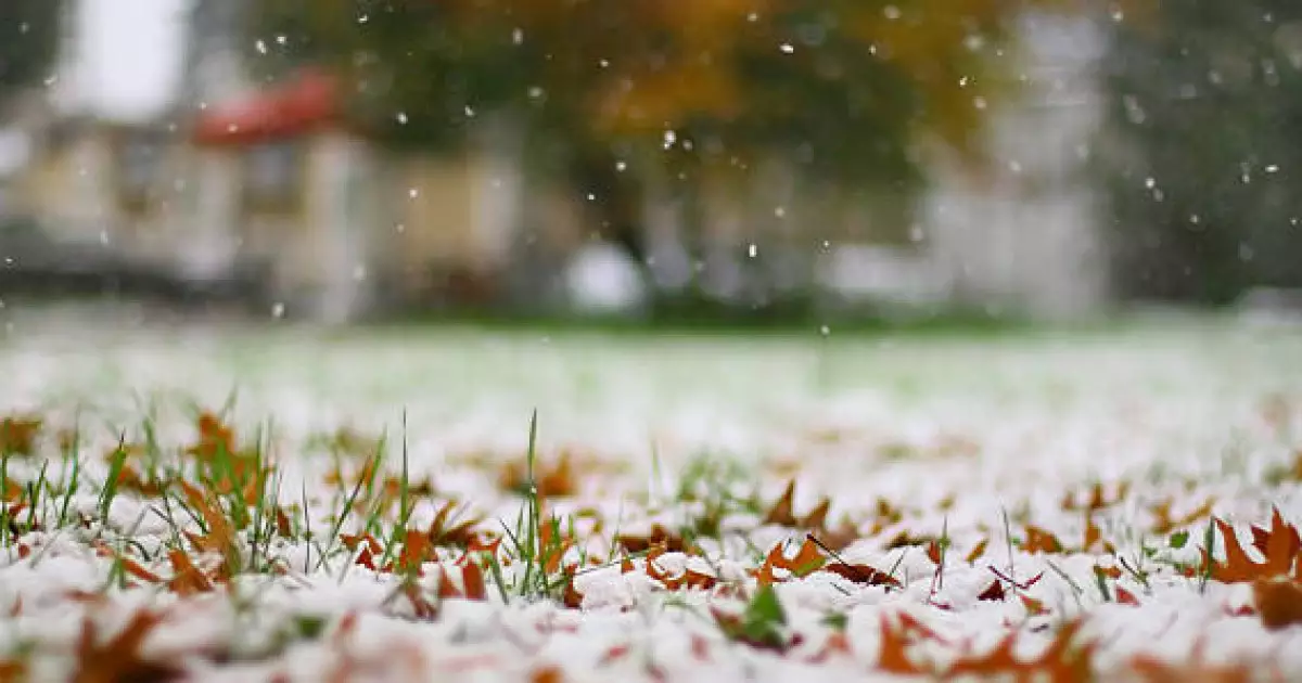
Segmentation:
{"type": "MultiPolygon", "coordinates": [[[[578,489],[549,500],[548,510],[587,510],[577,518],[577,536],[595,556],[607,557],[616,532],[676,528],[699,514],[677,492],[690,467],[710,462],[737,470],[724,485],[738,496],[758,488],[766,506],[793,476],[797,515],[829,497],[829,526],[849,518],[862,536],[841,552],[844,559],[891,571],[902,584],[888,591],[828,572],[775,584],[786,628],[802,637],[784,654],[724,637],[710,609],[736,613],[740,600],[667,591],[643,559],[631,572],[618,562],[582,571],[574,580],[581,609],[516,596],[503,604],[488,578],[486,601],[449,598],[437,619],[413,621],[410,602],[389,600],[392,575],[342,554],[318,570],[316,549],[276,539],[270,554],[290,569],[281,576],[238,576],[190,597],[135,582],[73,600],[76,591],[98,593],[111,574],[113,559],[91,544],[96,535],[132,557],[154,557],[172,542],[154,514],[158,501],[124,493],[107,528],[96,522],[33,531],[5,548],[0,610],[9,618],[0,621],[0,660],[30,652],[35,680],[68,675],[86,618],[107,640],[145,606],[167,609],[165,627],[145,652],[184,662],[194,680],[315,682],[341,667],[350,667],[348,680],[549,680],[553,673],[556,680],[889,680],[878,669],[881,623],[900,614],[978,653],[1017,632],[1023,657],[1083,617],[1082,636],[1099,641],[1094,663],[1104,675],[1135,654],[1187,663],[1195,653],[1211,663],[1243,661],[1262,671],[1277,667],[1284,678],[1302,675],[1299,631],[1263,628],[1249,613],[1249,585],[1174,570],[1198,565],[1207,516],[1176,529],[1189,532],[1182,548],[1169,533],[1150,531],[1154,507],[1165,501],[1178,518],[1212,500],[1212,514],[1232,522],[1245,546],[1249,524],[1267,524],[1272,506],[1290,523],[1302,520],[1297,481],[1280,475],[1302,446],[1302,334],[1293,328],[1189,321],[973,338],[818,330],[789,338],[607,338],[122,325],[79,311],[8,315],[0,351],[5,407],[39,414],[51,429],[76,420],[86,481],[104,480],[102,455],[120,437],[142,438],[146,415],[154,415],[160,444],[182,446],[194,440],[189,402],[217,408],[234,392],[232,424],[242,436],[259,425],[271,431],[279,500],[289,505],[306,493],[316,535],[329,529],[333,490],[326,484],[333,461],[320,437],[345,427],[405,444],[410,480],[434,484],[437,502],[418,500],[410,526],[427,527],[441,501],[456,500],[487,519],[483,528],[500,532],[496,520],[510,526],[523,498],[503,490],[496,476],[522,462],[536,410],[539,466],[572,453],[578,489]],[[1100,592],[1094,567],[1116,566],[1113,556],[1081,550],[1085,516],[1062,506],[1065,494],[1085,500],[1096,483],[1105,497],[1129,485],[1092,519],[1115,557],[1148,572],[1147,587],[1129,574],[1107,582],[1112,595],[1117,587],[1134,595],[1137,606],[1100,592]],[[879,500],[898,507],[901,519],[870,535],[879,500]],[[603,520],[600,531],[594,518],[603,520]],[[1005,528],[1021,539],[1026,522],[1068,550],[1012,546],[1005,528]],[[939,588],[923,546],[887,548],[900,532],[949,539],[939,588]],[[986,552],[967,562],[982,541],[986,552]],[[20,558],[17,544],[31,554],[20,558]],[[1008,585],[1006,600],[978,600],[995,582],[991,567],[1018,582],[1043,574],[1025,595],[1044,614],[1008,585]],[[844,615],[844,652],[824,652],[836,632],[828,614],[844,615]],[[303,619],[322,619],[320,636],[277,648],[303,619]]],[[[47,476],[57,479],[62,461],[46,441],[47,476]]],[[[393,453],[389,474],[398,467],[393,453]]],[[[12,458],[7,476],[33,481],[42,459],[12,458]]],[[[73,505],[98,515],[96,493],[92,487],[73,505]]],[[[790,557],[805,537],[762,516],[732,511],[721,540],[700,540],[706,557],[671,552],[656,567],[754,591],[750,571],[759,556],[790,541],[790,557]]],[[[342,531],[358,524],[350,518],[342,531]]],[[[1217,557],[1221,548],[1217,540],[1217,557]]],[[[437,553],[440,567],[460,557],[437,553]]],[[[142,563],[172,574],[165,561],[142,563]]],[[[441,575],[434,565],[421,579],[427,591],[441,575]]],[[[504,570],[512,580],[522,567],[504,570]]],[[[461,580],[448,571],[449,580],[461,580]]],[[[909,652],[940,665],[958,656],[939,640],[909,652]]]]}

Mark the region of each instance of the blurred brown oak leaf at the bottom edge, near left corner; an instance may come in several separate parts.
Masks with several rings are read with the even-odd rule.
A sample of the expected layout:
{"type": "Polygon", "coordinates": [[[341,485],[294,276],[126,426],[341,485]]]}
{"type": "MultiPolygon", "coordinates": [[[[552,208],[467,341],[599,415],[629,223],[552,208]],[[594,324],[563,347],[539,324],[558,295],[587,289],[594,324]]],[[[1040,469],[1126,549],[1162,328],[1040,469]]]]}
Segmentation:
{"type": "Polygon", "coordinates": [[[94,622],[83,619],[73,683],[161,683],[180,679],[185,671],[178,665],[141,656],[145,639],[161,622],[160,613],[137,611],[116,636],[99,644],[94,622]]]}

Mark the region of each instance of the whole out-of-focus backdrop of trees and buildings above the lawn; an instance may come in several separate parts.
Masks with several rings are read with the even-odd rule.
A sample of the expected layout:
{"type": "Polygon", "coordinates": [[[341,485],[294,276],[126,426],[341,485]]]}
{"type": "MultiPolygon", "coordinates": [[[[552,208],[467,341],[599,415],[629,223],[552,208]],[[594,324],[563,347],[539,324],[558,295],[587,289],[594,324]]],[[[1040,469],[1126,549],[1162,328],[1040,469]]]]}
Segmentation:
{"type": "Polygon", "coordinates": [[[1298,310],[1299,86],[1284,0],[5,0],[0,288],[331,324],[1298,310]]]}

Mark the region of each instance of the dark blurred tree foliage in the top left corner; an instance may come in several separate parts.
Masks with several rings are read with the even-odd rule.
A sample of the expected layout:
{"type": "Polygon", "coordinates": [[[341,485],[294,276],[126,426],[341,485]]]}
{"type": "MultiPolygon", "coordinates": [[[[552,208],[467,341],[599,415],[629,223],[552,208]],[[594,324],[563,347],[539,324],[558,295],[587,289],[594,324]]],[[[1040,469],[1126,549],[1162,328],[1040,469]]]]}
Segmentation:
{"type": "Polygon", "coordinates": [[[0,3],[0,105],[49,74],[62,33],[60,0],[0,3]]]}

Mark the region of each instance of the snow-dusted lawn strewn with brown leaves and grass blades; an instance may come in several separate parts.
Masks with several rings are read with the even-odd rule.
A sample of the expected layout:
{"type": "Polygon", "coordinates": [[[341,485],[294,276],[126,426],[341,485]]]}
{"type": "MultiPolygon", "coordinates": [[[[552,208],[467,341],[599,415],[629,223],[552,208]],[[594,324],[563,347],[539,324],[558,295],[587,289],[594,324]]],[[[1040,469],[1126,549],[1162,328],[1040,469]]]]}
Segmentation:
{"type": "Polygon", "coordinates": [[[38,317],[0,373],[0,680],[1302,676],[1297,329],[38,317]]]}

